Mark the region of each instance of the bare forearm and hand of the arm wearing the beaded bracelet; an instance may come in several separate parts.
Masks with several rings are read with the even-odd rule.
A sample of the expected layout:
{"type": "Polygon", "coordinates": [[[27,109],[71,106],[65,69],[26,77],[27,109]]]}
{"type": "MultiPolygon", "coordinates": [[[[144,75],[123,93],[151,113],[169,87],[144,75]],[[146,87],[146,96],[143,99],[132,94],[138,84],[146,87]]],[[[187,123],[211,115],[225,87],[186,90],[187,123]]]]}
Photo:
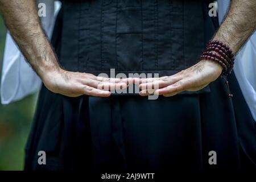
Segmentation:
{"type": "MultiPolygon", "coordinates": [[[[227,44],[236,54],[256,28],[256,0],[232,0],[224,22],[213,36],[227,44]]],[[[197,91],[216,80],[222,72],[222,67],[209,60],[202,60],[192,67],[172,76],[157,79],[141,79],[138,82],[142,88],[142,96],[152,93],[174,96],[184,90],[197,91]]]]}

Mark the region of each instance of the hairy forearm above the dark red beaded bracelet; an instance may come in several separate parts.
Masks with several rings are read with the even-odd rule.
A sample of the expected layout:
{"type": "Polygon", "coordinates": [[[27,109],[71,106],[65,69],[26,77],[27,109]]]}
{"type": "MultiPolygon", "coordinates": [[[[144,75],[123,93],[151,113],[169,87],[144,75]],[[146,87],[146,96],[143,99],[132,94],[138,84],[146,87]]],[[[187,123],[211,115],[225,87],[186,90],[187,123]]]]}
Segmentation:
{"type": "Polygon", "coordinates": [[[236,54],[256,29],[256,1],[232,0],[228,14],[214,35],[236,54]]]}

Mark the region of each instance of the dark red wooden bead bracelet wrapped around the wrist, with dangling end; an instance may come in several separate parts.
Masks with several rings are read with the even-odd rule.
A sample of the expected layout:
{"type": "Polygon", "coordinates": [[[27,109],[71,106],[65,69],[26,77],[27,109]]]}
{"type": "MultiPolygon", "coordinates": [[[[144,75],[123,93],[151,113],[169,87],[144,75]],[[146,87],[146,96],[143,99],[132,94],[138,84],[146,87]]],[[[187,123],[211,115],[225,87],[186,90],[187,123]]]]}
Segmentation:
{"type": "Polygon", "coordinates": [[[225,79],[225,76],[229,75],[234,67],[234,54],[232,50],[226,44],[213,40],[209,42],[207,48],[200,56],[201,60],[212,60],[221,65],[223,68],[221,77],[228,87],[228,97],[232,98],[233,94],[230,93],[228,80],[225,79]]]}

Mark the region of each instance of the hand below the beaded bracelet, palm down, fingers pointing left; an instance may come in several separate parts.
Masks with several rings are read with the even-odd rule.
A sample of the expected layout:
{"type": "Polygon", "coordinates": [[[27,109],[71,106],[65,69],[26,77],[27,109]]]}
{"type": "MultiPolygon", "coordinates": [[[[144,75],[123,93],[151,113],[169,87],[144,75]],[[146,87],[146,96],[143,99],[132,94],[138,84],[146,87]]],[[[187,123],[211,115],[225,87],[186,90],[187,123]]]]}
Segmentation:
{"type": "Polygon", "coordinates": [[[177,93],[197,91],[216,80],[222,72],[218,63],[210,60],[201,60],[192,67],[185,69],[172,76],[159,78],[135,78],[135,84],[142,89],[141,96],[151,94],[163,95],[165,97],[175,96],[177,93]]]}

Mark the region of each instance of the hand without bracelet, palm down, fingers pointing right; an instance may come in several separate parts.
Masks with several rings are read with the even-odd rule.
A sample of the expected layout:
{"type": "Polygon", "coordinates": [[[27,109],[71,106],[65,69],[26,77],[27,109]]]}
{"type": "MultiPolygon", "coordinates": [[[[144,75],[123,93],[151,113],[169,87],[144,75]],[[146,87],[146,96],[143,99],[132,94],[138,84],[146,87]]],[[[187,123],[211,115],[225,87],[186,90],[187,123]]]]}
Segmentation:
{"type": "Polygon", "coordinates": [[[109,97],[110,90],[125,89],[129,78],[105,78],[90,73],[70,72],[64,69],[47,72],[42,76],[44,85],[53,93],[68,97],[81,95],[109,97]]]}

